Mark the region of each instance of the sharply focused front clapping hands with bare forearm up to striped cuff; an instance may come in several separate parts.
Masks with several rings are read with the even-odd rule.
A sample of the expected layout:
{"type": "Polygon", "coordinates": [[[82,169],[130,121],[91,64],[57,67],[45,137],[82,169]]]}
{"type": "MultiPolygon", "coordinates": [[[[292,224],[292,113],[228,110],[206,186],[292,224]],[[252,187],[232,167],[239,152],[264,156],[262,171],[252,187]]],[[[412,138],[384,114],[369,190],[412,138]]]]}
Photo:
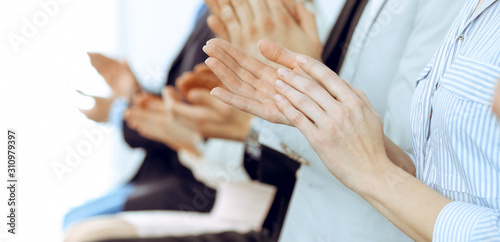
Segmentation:
{"type": "Polygon", "coordinates": [[[411,159],[384,136],[380,116],[362,91],[314,58],[269,41],[260,42],[262,55],[286,69],[266,67],[223,40],[211,40],[204,49],[211,56],[208,66],[229,90],[215,88],[214,96],[297,127],[346,187],[412,239],[432,240],[436,219],[451,201],[414,177],[411,159]]]}

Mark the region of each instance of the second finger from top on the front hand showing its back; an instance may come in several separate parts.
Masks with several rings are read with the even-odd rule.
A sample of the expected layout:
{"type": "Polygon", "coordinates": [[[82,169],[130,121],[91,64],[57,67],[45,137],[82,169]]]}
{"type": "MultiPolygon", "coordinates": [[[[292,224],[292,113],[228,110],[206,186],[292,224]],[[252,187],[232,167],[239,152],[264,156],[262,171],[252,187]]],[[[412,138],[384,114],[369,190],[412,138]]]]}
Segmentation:
{"type": "MultiPolygon", "coordinates": [[[[289,87],[288,85],[290,85],[294,90],[298,90],[300,94],[303,93],[306,96],[310,97],[322,108],[322,110],[325,110],[328,113],[330,113],[329,111],[331,110],[330,108],[332,106],[332,102],[338,103],[337,100],[335,100],[330,95],[330,93],[328,93],[328,91],[325,90],[325,88],[316,81],[304,78],[295,74],[294,72],[285,70],[283,68],[278,69],[278,76],[281,80],[285,81],[285,83],[282,84],[283,86],[281,88],[277,85],[277,90],[279,92],[282,91],[280,89],[286,89],[289,87]]],[[[288,95],[285,96],[292,103],[296,103],[294,102],[295,100],[290,98],[288,95]]],[[[304,97],[302,99],[304,99],[304,97]]]]}

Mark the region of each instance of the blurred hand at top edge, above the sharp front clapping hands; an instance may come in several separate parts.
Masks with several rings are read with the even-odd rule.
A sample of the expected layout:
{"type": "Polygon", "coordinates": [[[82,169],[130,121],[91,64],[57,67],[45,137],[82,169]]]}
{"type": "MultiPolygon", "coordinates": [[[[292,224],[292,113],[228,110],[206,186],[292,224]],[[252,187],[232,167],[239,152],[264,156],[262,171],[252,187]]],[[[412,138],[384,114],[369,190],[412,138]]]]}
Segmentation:
{"type": "Polygon", "coordinates": [[[315,15],[292,0],[205,0],[208,25],[221,38],[258,57],[257,42],[268,39],[321,60],[323,49],[315,15]]]}

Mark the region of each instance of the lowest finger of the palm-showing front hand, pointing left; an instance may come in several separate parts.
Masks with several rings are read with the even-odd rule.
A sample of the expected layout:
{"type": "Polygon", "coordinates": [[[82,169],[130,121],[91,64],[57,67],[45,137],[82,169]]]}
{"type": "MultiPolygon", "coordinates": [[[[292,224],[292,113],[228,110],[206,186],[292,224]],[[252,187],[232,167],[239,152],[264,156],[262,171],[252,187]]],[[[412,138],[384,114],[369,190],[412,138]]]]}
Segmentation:
{"type": "MultiPolygon", "coordinates": [[[[223,103],[233,106],[243,112],[250,113],[254,116],[258,116],[264,119],[266,119],[265,117],[276,117],[276,120],[268,120],[268,121],[274,122],[277,120],[286,120],[284,114],[280,112],[266,110],[265,105],[269,103],[259,103],[254,100],[230,93],[220,87],[214,88],[210,94],[217,97],[223,103]]],[[[274,102],[273,100],[270,99],[268,100],[270,102],[274,102]]],[[[266,100],[266,102],[268,100],[266,100]]]]}

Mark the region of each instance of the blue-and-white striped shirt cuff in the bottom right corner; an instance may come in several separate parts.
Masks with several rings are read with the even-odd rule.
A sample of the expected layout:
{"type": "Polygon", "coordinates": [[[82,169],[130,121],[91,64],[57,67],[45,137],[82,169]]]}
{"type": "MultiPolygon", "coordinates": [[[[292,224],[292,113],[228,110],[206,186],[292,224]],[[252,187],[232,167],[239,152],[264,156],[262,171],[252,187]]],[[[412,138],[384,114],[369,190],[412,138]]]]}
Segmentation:
{"type": "Polygon", "coordinates": [[[451,202],[438,216],[433,241],[500,241],[500,210],[451,202]]]}

